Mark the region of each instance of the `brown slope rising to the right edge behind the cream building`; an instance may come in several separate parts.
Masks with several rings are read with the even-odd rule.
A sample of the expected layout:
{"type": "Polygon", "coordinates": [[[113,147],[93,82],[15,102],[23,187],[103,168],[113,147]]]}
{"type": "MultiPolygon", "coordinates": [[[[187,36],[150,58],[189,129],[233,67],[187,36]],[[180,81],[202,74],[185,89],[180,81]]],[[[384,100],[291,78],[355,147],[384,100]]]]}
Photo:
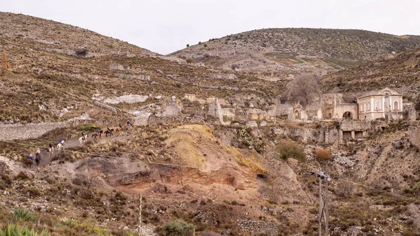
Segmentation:
{"type": "Polygon", "coordinates": [[[361,66],[324,76],[325,91],[365,92],[385,87],[415,98],[420,89],[420,49],[409,50],[390,59],[371,61],[361,66]]]}

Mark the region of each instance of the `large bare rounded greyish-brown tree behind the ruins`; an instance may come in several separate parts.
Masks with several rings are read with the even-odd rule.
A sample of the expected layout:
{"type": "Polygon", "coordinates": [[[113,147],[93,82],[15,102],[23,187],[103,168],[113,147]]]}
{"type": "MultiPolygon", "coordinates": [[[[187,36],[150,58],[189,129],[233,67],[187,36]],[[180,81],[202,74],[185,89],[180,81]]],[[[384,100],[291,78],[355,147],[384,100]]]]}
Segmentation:
{"type": "Polygon", "coordinates": [[[297,75],[288,83],[286,94],[288,100],[307,105],[319,96],[319,78],[311,74],[297,75]]]}

